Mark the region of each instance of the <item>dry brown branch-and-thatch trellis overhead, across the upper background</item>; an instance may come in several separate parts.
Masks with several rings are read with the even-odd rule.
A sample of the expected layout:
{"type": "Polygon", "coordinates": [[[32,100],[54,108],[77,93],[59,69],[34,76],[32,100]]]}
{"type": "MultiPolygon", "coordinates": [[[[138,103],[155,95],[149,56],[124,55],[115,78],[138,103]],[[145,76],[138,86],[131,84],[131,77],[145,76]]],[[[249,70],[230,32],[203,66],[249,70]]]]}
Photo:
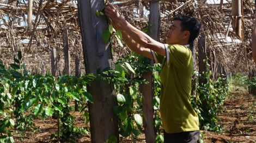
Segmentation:
{"type": "MultiPolygon", "coordinates": [[[[143,30],[148,25],[149,2],[151,0],[108,1],[114,4],[123,17],[143,30]]],[[[214,2],[214,1],[212,1],[214,2]]],[[[216,1],[217,2],[217,1],[216,1]]],[[[253,0],[241,1],[242,36],[230,24],[231,1],[219,4],[206,0],[160,1],[160,41],[166,41],[166,34],[172,19],[178,15],[197,17],[203,23],[202,33],[206,35],[207,47],[214,59],[230,72],[249,72],[255,68],[251,39],[254,27],[253,0]],[[227,36],[226,36],[227,35],[227,36]]],[[[28,70],[51,71],[51,49],[56,48],[58,70],[64,69],[63,31],[68,29],[71,74],[75,71],[75,56],[82,58],[82,42],[78,25],[77,1],[32,1],[31,24],[28,24],[29,3],[24,0],[0,1],[0,60],[6,65],[13,63],[17,51],[21,50],[23,62],[28,70]],[[31,27],[31,29],[29,29],[31,27]]],[[[94,12],[94,11],[92,11],[94,12]]],[[[116,60],[120,55],[130,53],[126,47],[112,43],[116,60]]],[[[209,57],[212,60],[212,57],[209,57]]],[[[81,60],[82,62],[83,60],[81,60]]],[[[214,60],[212,60],[214,62],[214,60]]]]}

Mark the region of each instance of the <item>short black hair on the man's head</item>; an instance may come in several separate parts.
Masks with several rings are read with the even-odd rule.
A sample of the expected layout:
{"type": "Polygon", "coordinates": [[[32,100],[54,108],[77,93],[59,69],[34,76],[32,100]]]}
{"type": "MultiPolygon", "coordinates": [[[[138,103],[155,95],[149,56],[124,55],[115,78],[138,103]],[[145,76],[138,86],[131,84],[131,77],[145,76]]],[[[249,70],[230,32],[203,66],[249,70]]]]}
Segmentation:
{"type": "Polygon", "coordinates": [[[181,21],[180,23],[181,31],[185,31],[185,30],[190,31],[190,38],[188,40],[188,43],[193,42],[197,38],[202,28],[202,23],[198,21],[197,18],[187,16],[187,15],[182,15],[182,16],[176,16],[173,19],[174,21],[176,20],[181,21]]]}

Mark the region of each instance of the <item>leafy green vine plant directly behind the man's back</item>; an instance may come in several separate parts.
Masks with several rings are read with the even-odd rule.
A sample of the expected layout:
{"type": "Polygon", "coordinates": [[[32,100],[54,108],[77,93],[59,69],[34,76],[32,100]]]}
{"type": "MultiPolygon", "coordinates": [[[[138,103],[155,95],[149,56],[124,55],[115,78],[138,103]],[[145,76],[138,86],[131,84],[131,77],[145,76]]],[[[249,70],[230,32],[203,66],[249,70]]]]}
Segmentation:
{"type": "Polygon", "coordinates": [[[217,115],[223,112],[223,103],[230,94],[228,80],[222,75],[216,81],[212,81],[209,64],[206,64],[206,69],[204,75],[199,74],[198,78],[206,81],[206,83],[198,81],[197,87],[199,100],[197,100],[196,112],[199,115],[199,124],[202,129],[222,132],[222,125],[219,125],[217,115]]]}

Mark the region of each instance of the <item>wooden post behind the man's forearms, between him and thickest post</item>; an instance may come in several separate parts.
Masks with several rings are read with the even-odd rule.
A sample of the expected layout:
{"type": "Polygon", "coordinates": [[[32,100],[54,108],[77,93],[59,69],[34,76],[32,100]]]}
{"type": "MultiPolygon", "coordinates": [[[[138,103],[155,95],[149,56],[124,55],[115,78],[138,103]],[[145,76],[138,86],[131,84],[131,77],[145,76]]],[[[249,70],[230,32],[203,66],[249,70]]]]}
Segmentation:
{"type": "MultiPolygon", "coordinates": [[[[153,32],[150,30],[148,31],[148,35],[156,41],[159,41],[159,33],[160,33],[160,2],[150,2],[150,16],[149,16],[149,29],[152,29],[153,32]],[[151,25],[152,24],[152,25],[151,25]],[[151,26],[150,26],[151,25],[151,26]]],[[[154,61],[151,59],[146,58],[145,63],[149,63],[152,66],[154,65],[154,61]]],[[[151,101],[154,98],[154,82],[153,82],[153,72],[148,70],[147,72],[143,73],[143,79],[149,82],[148,85],[142,84],[142,95],[144,99],[142,100],[142,110],[145,114],[143,117],[143,126],[145,128],[145,138],[146,142],[155,142],[156,138],[156,129],[153,126],[154,122],[154,109],[151,104],[151,101]],[[145,119],[147,118],[147,119],[145,119]]]]}

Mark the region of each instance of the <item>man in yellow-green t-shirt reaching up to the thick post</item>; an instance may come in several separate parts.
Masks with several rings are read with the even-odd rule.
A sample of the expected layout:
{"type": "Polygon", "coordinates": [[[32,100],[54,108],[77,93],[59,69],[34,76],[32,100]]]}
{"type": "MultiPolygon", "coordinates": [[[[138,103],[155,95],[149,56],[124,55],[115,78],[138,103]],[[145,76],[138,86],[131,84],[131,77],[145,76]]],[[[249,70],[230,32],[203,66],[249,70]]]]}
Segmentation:
{"type": "Polygon", "coordinates": [[[164,142],[197,142],[199,122],[190,103],[193,59],[188,47],[199,35],[201,23],[190,16],[175,17],[167,44],[162,44],[125,21],[113,5],[107,4],[105,14],[121,30],[131,50],[162,64],[160,113],[164,142]]]}

